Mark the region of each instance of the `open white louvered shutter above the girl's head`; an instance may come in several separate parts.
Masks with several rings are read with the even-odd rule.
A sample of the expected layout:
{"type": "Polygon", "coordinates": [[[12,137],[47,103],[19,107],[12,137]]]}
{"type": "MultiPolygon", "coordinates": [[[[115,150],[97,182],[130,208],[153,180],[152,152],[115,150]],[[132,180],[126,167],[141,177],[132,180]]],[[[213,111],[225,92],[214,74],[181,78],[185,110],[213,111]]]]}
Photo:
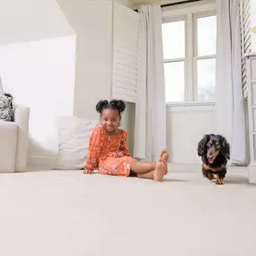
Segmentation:
{"type": "Polygon", "coordinates": [[[113,4],[112,98],[136,102],[139,14],[113,4]]]}

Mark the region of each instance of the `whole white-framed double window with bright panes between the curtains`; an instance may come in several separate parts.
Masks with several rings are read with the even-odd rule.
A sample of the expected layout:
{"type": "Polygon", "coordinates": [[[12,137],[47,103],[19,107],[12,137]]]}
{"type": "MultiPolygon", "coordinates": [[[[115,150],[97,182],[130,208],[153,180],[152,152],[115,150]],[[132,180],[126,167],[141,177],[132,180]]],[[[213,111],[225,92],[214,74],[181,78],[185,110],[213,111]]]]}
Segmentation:
{"type": "Polygon", "coordinates": [[[196,11],[163,19],[166,102],[215,102],[216,14],[196,11]]]}

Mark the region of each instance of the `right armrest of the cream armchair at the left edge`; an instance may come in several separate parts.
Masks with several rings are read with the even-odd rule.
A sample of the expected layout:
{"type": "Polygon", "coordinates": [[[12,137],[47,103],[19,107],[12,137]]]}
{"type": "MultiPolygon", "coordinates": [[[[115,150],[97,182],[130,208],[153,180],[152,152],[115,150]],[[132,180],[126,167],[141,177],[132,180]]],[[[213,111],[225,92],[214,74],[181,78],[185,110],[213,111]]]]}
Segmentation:
{"type": "Polygon", "coordinates": [[[30,108],[22,105],[14,110],[14,122],[18,126],[15,172],[22,172],[27,167],[29,145],[30,108]]]}

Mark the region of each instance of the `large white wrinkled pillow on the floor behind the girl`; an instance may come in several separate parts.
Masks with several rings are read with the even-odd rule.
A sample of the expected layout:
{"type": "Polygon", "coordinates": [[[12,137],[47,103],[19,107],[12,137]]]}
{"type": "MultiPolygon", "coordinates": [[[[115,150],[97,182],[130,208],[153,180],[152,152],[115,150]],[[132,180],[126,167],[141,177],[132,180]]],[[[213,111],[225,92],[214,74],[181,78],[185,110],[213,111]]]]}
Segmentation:
{"type": "Polygon", "coordinates": [[[54,169],[81,170],[89,152],[91,133],[98,121],[64,117],[59,118],[57,123],[58,149],[54,169]]]}

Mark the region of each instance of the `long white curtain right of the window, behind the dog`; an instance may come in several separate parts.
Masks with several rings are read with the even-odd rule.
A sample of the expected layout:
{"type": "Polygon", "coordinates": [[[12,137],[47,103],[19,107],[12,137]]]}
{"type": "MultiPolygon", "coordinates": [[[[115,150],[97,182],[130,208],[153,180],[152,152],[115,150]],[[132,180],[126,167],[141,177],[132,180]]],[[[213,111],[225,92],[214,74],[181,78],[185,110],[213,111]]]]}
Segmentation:
{"type": "Polygon", "coordinates": [[[231,163],[246,163],[239,0],[216,0],[216,132],[231,144],[231,163]]]}

